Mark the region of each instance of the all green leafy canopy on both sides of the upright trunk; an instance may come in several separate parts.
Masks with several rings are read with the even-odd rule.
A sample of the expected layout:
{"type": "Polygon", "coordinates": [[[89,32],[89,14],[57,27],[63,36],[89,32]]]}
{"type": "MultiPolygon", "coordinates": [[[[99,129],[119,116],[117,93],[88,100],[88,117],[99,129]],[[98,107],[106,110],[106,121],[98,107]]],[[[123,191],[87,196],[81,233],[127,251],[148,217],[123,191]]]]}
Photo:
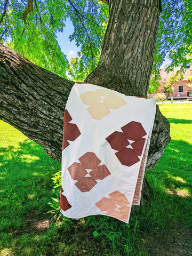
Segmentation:
{"type": "MultiPolygon", "coordinates": [[[[104,0],[1,1],[0,40],[38,66],[61,77],[66,77],[66,70],[69,70],[73,80],[83,80],[99,62],[108,22],[106,3],[108,1],[104,0]],[[57,33],[65,29],[67,19],[74,25],[74,33],[69,39],[75,40],[76,45],[81,47],[78,58],[72,60],[70,65],[57,41],[57,33]]],[[[191,28],[190,0],[162,0],[152,83],[159,79],[158,69],[166,57],[171,60],[169,69],[190,65],[191,28]]]]}

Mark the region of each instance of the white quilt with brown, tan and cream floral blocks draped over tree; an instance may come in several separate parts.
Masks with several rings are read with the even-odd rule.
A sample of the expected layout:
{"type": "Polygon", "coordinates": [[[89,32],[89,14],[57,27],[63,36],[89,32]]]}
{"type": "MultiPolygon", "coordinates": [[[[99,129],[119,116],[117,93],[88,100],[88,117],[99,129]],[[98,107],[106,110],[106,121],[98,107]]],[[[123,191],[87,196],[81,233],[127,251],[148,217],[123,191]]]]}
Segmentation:
{"type": "Polygon", "coordinates": [[[60,211],[129,223],[139,205],[156,100],[76,83],[63,122],[60,211]]]}

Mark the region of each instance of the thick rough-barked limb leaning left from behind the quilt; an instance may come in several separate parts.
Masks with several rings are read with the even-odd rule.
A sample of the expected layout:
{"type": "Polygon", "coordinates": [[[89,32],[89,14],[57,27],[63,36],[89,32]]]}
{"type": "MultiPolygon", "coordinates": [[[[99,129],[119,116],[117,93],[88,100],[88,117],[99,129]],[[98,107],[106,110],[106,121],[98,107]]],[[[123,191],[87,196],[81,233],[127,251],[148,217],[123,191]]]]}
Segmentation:
{"type": "Polygon", "coordinates": [[[0,119],[59,162],[63,113],[73,85],[0,44],[0,119]]]}

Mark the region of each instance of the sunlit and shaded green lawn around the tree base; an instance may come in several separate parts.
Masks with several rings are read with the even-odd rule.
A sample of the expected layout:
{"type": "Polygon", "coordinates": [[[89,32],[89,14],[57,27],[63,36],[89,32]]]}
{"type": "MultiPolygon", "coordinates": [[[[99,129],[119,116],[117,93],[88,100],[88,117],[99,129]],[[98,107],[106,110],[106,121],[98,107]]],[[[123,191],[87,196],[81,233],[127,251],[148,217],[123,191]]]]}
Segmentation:
{"type": "Polygon", "coordinates": [[[172,140],[146,172],[153,194],[135,207],[129,225],[105,216],[59,218],[48,203],[57,197],[51,178],[61,165],[0,121],[0,255],[177,255],[167,252],[175,253],[191,225],[192,104],[159,108],[171,124],[172,140]]]}

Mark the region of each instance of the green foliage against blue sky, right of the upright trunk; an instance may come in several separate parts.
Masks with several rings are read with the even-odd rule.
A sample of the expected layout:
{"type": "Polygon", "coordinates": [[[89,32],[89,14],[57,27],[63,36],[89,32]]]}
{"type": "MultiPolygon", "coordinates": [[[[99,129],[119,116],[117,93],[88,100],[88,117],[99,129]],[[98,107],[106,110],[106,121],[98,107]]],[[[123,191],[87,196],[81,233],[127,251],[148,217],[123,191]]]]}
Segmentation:
{"type": "Polygon", "coordinates": [[[192,56],[192,3],[190,0],[162,0],[162,14],[154,59],[153,75],[157,77],[158,68],[168,57],[171,65],[166,69],[173,71],[174,67],[186,68],[191,64],[192,56]]]}

